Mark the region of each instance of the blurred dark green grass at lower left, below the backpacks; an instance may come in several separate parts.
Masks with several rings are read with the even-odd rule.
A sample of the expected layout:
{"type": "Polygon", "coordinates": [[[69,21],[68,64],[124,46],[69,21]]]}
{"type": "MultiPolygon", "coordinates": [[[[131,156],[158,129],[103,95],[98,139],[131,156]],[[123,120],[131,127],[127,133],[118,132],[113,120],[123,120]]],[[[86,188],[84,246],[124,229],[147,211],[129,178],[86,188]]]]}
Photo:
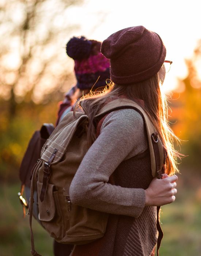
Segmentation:
{"type": "MultiPolygon", "coordinates": [[[[1,256],[30,255],[29,217],[22,217],[22,206],[17,193],[20,184],[0,187],[0,254],[1,256]]],[[[33,219],[36,249],[43,256],[53,256],[52,238],[33,219]]]]}

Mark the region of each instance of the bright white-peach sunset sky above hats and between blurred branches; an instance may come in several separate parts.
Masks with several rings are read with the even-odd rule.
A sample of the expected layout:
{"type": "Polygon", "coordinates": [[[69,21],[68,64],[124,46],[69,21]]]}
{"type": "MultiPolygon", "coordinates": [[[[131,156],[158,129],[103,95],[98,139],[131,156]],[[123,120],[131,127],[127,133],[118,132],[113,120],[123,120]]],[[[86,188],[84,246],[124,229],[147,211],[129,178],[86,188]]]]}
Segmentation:
{"type": "MultiPolygon", "coordinates": [[[[27,2],[27,8],[31,6],[31,1],[27,2]]],[[[27,76],[20,79],[15,86],[16,95],[22,95],[30,90],[31,87],[37,88],[33,91],[35,102],[41,100],[44,91],[51,91],[51,86],[55,87],[57,78],[73,72],[73,64],[65,54],[65,44],[73,35],[84,35],[87,38],[103,41],[110,34],[125,27],[143,25],[147,29],[155,31],[163,39],[167,49],[167,60],[173,61],[170,72],[166,75],[163,90],[182,90],[178,88],[178,79],[187,75],[185,59],[191,58],[198,39],[201,38],[200,29],[200,8],[199,2],[188,1],[168,1],[162,4],[161,1],[115,1],[102,0],[98,3],[94,0],[84,0],[83,3],[68,7],[64,12],[63,4],[56,0],[49,0],[48,5],[39,5],[39,11],[45,11],[45,16],[41,16],[34,26],[34,33],[27,32],[27,40],[22,48],[20,36],[16,33],[8,43],[5,38],[3,44],[9,44],[9,52],[4,54],[1,59],[1,66],[7,69],[6,75],[1,75],[6,84],[15,82],[15,70],[22,64],[21,54],[29,54],[31,47],[31,60],[27,65],[27,76]],[[52,16],[50,16],[50,13],[52,16]],[[64,28],[66,28],[64,30],[64,28]],[[49,44],[40,45],[48,33],[58,36],[49,44]],[[42,80],[35,81],[35,77],[43,70],[45,65],[45,76],[42,80]],[[40,93],[38,93],[38,91],[40,93]],[[39,97],[39,95],[41,95],[39,97]]],[[[11,17],[12,22],[17,26],[25,18],[24,5],[21,3],[12,4],[7,16],[11,17]],[[15,11],[14,11],[15,10],[15,11]],[[12,12],[12,15],[11,13],[12,12]]],[[[6,35],[10,31],[10,23],[1,25],[0,34],[6,35]]],[[[196,63],[198,78],[201,79],[201,63],[196,63]]],[[[70,85],[69,85],[70,86],[70,85]]],[[[199,84],[196,83],[199,87],[199,84]]],[[[4,89],[0,90],[1,92],[4,89]]],[[[5,94],[5,91],[4,91],[5,94]]],[[[2,93],[1,93],[2,95],[2,93]]]]}

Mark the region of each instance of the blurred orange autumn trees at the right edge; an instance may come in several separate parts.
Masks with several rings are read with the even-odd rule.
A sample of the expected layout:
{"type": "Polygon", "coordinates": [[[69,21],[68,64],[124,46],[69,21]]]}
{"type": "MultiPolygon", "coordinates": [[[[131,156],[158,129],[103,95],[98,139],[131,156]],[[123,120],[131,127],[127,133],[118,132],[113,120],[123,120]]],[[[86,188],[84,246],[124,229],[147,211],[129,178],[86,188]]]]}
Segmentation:
{"type": "Polygon", "coordinates": [[[191,59],[186,60],[187,76],[178,81],[181,93],[174,93],[172,128],[182,140],[182,153],[188,157],[182,166],[200,171],[201,154],[201,40],[191,59]],[[176,122],[175,122],[176,121],[176,122]]]}

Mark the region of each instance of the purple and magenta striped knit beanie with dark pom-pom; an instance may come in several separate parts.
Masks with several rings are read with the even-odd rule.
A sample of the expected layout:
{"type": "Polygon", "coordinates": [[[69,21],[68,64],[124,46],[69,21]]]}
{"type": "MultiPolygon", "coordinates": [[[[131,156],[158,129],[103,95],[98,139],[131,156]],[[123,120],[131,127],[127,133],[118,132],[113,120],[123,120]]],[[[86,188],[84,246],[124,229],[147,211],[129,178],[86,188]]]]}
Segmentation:
{"type": "Polygon", "coordinates": [[[73,37],[66,45],[66,53],[75,61],[77,88],[106,86],[106,79],[110,78],[110,61],[101,53],[101,42],[83,36],[73,37]]]}

